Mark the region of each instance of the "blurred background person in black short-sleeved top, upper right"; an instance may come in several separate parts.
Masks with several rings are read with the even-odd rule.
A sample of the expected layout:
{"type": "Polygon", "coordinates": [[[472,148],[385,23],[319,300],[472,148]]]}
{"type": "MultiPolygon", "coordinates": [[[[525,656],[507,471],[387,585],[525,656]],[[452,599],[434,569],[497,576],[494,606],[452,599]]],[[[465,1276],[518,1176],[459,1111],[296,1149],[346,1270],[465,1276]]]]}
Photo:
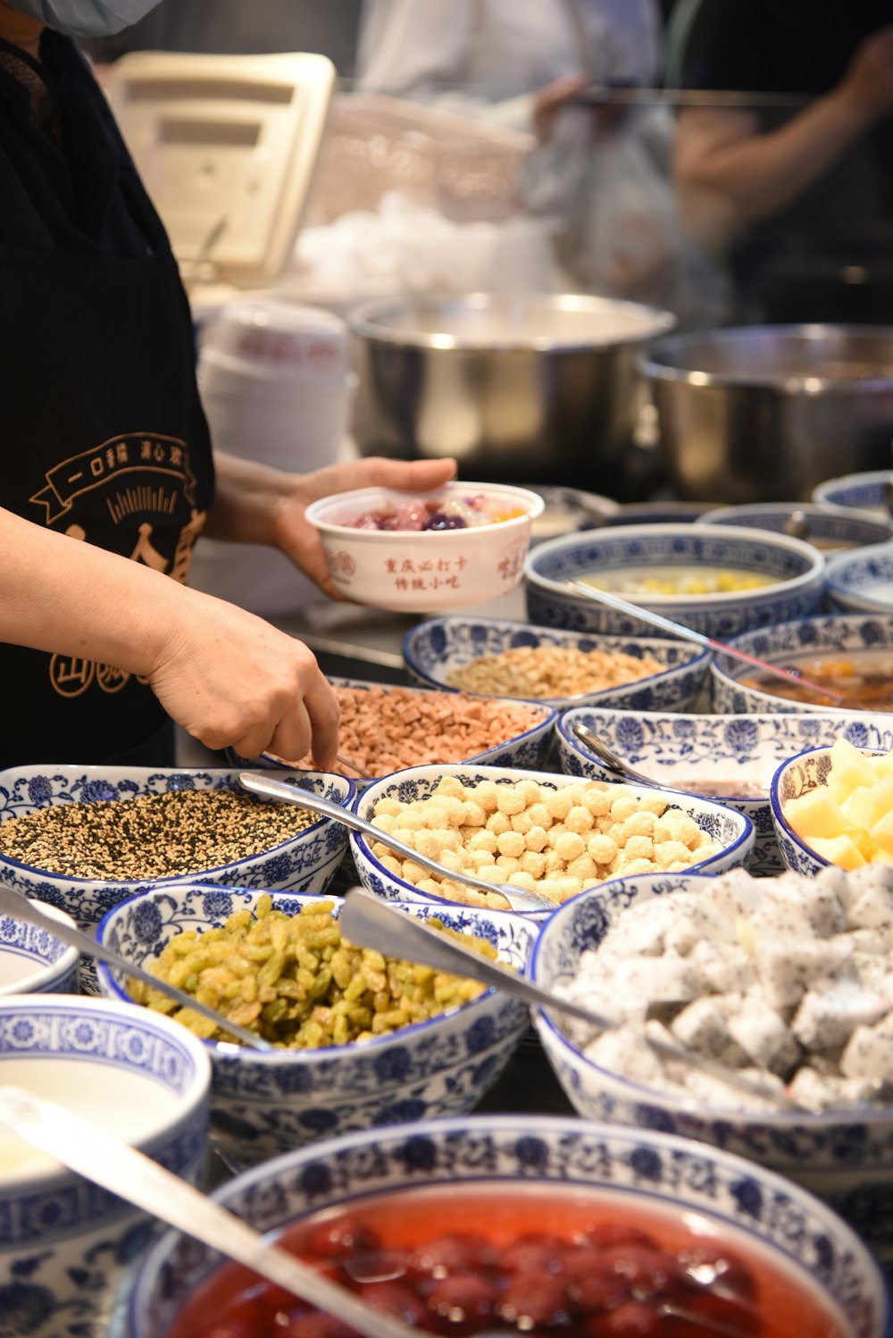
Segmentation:
{"type": "Polygon", "coordinates": [[[684,108],[676,135],[683,217],[729,249],[742,314],[889,320],[890,0],[680,0],[678,17],[670,83],[769,95],[684,108]]]}

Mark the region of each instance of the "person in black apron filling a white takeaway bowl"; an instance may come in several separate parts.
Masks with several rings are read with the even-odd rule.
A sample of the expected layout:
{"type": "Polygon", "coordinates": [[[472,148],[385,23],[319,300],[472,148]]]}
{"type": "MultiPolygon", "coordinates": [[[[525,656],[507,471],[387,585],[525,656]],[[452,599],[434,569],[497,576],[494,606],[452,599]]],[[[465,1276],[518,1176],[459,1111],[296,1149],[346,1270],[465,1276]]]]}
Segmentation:
{"type": "MultiPolygon", "coordinates": [[[[51,17],[103,8],[53,0],[51,17]]],[[[330,765],[337,704],[313,656],[184,589],[193,545],[210,514],[215,537],[278,543],[320,579],[303,504],[437,487],[451,464],[366,460],[301,483],[222,458],[215,516],[176,264],[90,68],[41,15],[0,3],[0,768],[170,764],[171,717],[210,747],[313,743],[330,765]]]]}

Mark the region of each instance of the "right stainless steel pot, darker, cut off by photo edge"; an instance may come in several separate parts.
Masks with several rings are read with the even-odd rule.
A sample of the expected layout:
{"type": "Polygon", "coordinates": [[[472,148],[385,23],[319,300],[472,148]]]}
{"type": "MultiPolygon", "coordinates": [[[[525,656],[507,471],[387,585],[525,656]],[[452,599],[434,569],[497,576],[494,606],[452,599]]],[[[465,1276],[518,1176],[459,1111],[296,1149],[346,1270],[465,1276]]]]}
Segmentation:
{"type": "Polygon", "coordinates": [[[893,326],[674,334],[639,365],[679,496],[806,500],[823,479],[893,466],[893,326]]]}

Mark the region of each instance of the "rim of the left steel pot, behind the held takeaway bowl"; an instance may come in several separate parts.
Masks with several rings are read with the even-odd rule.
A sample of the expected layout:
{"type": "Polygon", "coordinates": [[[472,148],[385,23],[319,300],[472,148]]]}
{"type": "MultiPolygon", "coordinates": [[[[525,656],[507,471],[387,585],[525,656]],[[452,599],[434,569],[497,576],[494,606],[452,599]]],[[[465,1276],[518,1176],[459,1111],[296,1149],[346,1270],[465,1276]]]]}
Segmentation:
{"type": "Polygon", "coordinates": [[[643,302],[630,302],[612,297],[598,297],[590,293],[426,293],[421,296],[397,294],[389,298],[373,298],[362,302],[348,312],[348,324],[352,332],[361,339],[372,340],[377,344],[389,344],[404,348],[434,349],[437,352],[460,353],[573,353],[599,352],[611,348],[636,347],[658,336],[667,334],[676,325],[672,312],[662,310],[658,306],[647,306],[643,302]],[[592,312],[614,313],[628,316],[631,322],[638,321],[639,329],[631,328],[624,334],[611,334],[603,339],[575,337],[575,336],[533,336],[511,337],[508,334],[481,340],[473,333],[451,334],[429,333],[425,330],[394,329],[386,324],[388,313],[397,313],[406,308],[416,308],[420,312],[436,310],[438,308],[456,308],[465,312],[485,312],[511,302],[536,302],[552,310],[564,312],[592,312]]]}

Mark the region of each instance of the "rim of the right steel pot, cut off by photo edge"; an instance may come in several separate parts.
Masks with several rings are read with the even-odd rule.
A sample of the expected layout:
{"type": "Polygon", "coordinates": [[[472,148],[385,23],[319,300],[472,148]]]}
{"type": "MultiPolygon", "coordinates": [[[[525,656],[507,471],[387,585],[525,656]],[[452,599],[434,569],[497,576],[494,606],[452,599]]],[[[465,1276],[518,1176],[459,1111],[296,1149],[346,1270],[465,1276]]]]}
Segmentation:
{"type": "Polygon", "coordinates": [[[730,325],[713,330],[692,330],[683,334],[670,334],[659,344],[636,357],[636,369],[650,381],[691,385],[696,389],[742,389],[774,391],[778,395],[802,395],[815,397],[822,395],[865,395],[866,392],[893,391],[893,363],[888,375],[848,377],[829,376],[821,368],[815,372],[778,375],[770,371],[753,372],[706,372],[698,368],[678,365],[678,356],[684,349],[706,341],[718,345],[734,345],[761,336],[787,336],[803,341],[819,341],[830,337],[878,337],[893,344],[893,325],[858,325],[836,322],[803,322],[782,325],[730,325]]]}

